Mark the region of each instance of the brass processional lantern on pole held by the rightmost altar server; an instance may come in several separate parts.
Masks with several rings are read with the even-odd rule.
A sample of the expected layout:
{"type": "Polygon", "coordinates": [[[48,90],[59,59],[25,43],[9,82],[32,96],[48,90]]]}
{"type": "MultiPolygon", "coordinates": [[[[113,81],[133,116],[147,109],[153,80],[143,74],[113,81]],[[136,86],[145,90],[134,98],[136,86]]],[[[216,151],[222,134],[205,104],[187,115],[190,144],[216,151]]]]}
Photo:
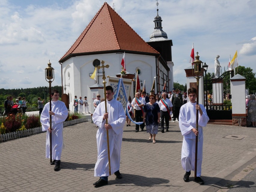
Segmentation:
{"type": "MultiPolygon", "coordinates": [[[[193,62],[192,65],[192,73],[193,76],[197,79],[197,105],[199,99],[199,79],[202,77],[202,65],[203,62],[199,60],[199,55],[195,56],[196,60],[193,62]],[[193,69],[194,67],[194,69],[193,69]]],[[[196,110],[196,130],[198,131],[198,110],[196,110]]],[[[195,178],[197,177],[197,143],[198,143],[198,136],[196,136],[196,149],[195,149],[195,178]]]]}

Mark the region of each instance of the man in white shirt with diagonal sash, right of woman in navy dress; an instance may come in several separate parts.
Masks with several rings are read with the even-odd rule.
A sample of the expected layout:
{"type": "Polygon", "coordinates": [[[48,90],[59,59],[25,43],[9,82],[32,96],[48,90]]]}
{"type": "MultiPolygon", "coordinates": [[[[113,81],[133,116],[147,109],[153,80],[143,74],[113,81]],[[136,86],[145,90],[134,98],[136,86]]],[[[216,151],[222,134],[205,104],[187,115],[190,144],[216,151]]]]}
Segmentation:
{"type": "Polygon", "coordinates": [[[161,129],[162,133],[164,133],[164,119],[166,132],[169,131],[169,120],[172,114],[172,102],[168,98],[166,98],[166,92],[162,93],[162,97],[163,98],[159,101],[158,105],[160,107],[161,129]]]}

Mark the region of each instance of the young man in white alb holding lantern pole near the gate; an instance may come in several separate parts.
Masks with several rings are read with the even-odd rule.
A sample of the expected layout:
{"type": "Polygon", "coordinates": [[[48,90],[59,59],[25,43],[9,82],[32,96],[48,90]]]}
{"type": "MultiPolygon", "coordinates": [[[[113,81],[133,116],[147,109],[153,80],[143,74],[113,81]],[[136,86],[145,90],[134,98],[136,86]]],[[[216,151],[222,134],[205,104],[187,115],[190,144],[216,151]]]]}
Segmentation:
{"type": "Polygon", "coordinates": [[[202,159],[203,159],[203,127],[206,127],[209,117],[202,104],[197,105],[197,89],[189,88],[188,97],[190,102],[181,106],[179,114],[179,127],[183,137],[181,149],[181,165],[186,171],[184,181],[189,181],[190,170],[195,170],[195,144],[198,135],[197,146],[197,177],[195,181],[204,184],[201,179],[202,159]],[[198,131],[196,130],[196,110],[198,110],[198,131]]]}

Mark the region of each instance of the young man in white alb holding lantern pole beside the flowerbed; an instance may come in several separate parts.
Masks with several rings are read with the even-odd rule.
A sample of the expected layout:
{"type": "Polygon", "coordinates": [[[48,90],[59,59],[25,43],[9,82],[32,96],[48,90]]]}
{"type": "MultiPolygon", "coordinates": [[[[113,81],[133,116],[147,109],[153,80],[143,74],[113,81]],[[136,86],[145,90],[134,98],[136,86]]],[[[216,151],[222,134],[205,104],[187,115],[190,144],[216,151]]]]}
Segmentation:
{"type": "Polygon", "coordinates": [[[50,159],[50,132],[52,133],[52,158],[51,165],[55,164],[54,170],[60,170],[60,156],[63,146],[63,121],[68,117],[68,110],[62,101],[59,101],[59,91],[54,89],[52,95],[52,110],[50,111],[50,102],[45,104],[41,113],[42,131],[46,134],[46,158],[50,159]],[[50,115],[52,116],[52,130],[50,130],[50,115]]]}

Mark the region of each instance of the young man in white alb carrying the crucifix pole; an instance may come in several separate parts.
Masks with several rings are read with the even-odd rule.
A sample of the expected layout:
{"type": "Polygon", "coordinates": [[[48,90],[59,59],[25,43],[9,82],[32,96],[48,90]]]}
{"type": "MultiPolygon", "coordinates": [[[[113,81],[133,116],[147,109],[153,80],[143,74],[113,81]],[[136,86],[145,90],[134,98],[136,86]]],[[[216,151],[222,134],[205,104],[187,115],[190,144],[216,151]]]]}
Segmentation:
{"type": "Polygon", "coordinates": [[[94,176],[100,177],[93,185],[108,184],[108,146],[107,131],[109,137],[109,152],[111,173],[121,179],[120,174],[120,153],[123,138],[123,126],[125,124],[125,113],[120,102],[113,99],[114,92],[111,86],[106,86],[107,113],[105,112],[105,101],[101,102],[93,113],[93,122],[99,127],[96,135],[98,159],[95,164],[94,176]],[[106,124],[108,119],[108,124],[106,124]]]}

